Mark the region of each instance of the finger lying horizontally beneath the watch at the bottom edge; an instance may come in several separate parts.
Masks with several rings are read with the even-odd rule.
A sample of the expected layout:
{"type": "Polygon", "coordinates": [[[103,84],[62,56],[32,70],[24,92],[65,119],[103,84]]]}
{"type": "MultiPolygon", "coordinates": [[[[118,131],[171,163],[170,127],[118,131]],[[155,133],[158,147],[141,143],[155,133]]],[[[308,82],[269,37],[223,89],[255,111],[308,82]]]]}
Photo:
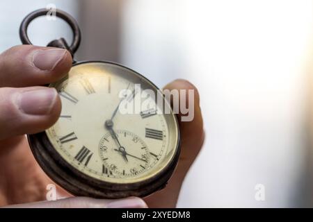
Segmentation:
{"type": "Polygon", "coordinates": [[[138,197],[116,200],[72,197],[61,200],[8,205],[6,208],[147,208],[147,205],[145,204],[145,201],[138,197]]]}

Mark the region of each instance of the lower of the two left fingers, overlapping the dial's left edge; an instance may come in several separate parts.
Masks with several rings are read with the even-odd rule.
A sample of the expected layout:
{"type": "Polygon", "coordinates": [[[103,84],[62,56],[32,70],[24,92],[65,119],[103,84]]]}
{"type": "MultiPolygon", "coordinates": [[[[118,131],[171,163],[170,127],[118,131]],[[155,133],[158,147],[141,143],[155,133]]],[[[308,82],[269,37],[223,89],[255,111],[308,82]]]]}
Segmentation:
{"type": "Polygon", "coordinates": [[[0,88],[0,139],[45,130],[60,112],[61,100],[53,88],[0,88]]]}

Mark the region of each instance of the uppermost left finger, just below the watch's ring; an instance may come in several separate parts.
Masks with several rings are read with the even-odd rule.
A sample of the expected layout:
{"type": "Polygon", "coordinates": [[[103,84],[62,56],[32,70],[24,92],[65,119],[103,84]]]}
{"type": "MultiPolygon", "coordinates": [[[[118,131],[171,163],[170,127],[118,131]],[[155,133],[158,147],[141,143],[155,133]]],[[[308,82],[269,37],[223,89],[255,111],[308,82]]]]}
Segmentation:
{"type": "Polygon", "coordinates": [[[52,83],[67,74],[72,56],[65,49],[14,46],[0,54],[0,87],[27,87],[52,83]]]}

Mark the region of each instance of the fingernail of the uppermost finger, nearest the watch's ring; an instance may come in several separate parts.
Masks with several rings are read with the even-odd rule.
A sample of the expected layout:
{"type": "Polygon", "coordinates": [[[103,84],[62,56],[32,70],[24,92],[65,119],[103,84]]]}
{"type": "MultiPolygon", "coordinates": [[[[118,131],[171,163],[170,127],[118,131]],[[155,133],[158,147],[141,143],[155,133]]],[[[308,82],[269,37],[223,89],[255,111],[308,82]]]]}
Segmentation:
{"type": "Polygon", "coordinates": [[[65,56],[65,49],[38,50],[33,54],[33,65],[42,71],[54,70],[65,56]]]}

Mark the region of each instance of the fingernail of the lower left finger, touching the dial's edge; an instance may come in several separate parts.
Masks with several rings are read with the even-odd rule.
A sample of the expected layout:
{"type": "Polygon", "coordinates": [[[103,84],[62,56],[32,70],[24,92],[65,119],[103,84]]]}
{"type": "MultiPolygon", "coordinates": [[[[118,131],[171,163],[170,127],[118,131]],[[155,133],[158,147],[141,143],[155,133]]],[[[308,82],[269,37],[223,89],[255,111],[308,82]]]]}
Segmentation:
{"type": "Polygon", "coordinates": [[[34,89],[22,92],[17,96],[19,109],[26,114],[49,114],[56,100],[56,89],[34,89]]]}

